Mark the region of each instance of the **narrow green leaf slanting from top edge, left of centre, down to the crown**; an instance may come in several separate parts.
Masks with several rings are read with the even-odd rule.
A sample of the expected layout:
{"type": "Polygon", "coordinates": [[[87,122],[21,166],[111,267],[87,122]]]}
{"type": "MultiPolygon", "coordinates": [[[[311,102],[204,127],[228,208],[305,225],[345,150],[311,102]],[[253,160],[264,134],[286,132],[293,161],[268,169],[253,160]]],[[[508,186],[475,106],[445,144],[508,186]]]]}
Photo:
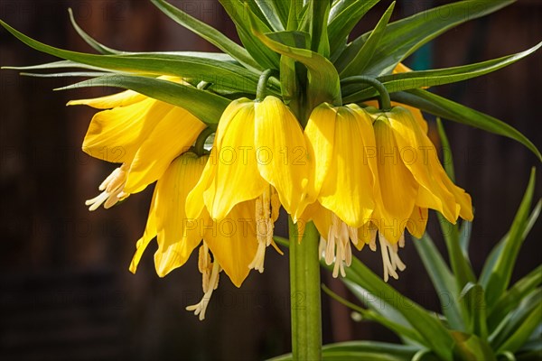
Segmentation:
{"type": "Polygon", "coordinates": [[[195,17],[186,14],[182,10],[167,3],[164,0],[151,0],[151,2],[160,9],[164,14],[173,19],[175,23],[179,23],[186,29],[190,30],[201,36],[201,38],[210,42],[221,51],[229,54],[234,59],[238,60],[241,64],[249,69],[261,70],[263,69],[260,64],[248,54],[248,51],[237,43],[231,41],[226,35],[219,32],[212,26],[201,22],[195,17]]]}

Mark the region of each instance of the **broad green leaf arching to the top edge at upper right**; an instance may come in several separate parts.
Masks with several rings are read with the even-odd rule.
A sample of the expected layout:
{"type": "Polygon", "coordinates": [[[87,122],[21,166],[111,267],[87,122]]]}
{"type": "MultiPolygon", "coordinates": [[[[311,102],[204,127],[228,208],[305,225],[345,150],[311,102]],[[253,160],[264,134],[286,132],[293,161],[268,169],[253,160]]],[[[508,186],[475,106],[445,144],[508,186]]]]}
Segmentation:
{"type": "MultiPolygon", "coordinates": [[[[438,35],[460,23],[491,14],[515,0],[467,0],[438,6],[390,23],[364,75],[389,74],[397,64],[438,35]],[[445,14],[445,15],[444,15],[445,14]]],[[[335,62],[341,71],[360,51],[370,32],[351,42],[335,62]]]]}

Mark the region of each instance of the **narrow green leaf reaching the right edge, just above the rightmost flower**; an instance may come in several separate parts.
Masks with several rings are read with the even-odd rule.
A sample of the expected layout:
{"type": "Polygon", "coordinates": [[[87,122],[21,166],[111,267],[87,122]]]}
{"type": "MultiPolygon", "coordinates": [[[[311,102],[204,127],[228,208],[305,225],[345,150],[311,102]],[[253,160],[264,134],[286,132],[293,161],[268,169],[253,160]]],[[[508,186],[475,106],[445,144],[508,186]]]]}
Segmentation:
{"type": "MultiPolygon", "coordinates": [[[[376,31],[377,30],[375,30],[375,32],[376,31]]],[[[361,48],[361,51],[363,51],[365,47],[368,46],[368,44],[371,42],[371,38],[372,35],[365,43],[363,48],[361,48]]],[[[533,52],[537,51],[538,49],[540,49],[541,46],[542,42],[538,43],[536,46],[528,49],[527,51],[521,51],[517,54],[508,55],[499,59],[482,61],[474,64],[463,65],[460,67],[422,71],[407,71],[397,74],[385,75],[382,77],[378,77],[377,79],[382,84],[384,84],[384,86],[388,89],[388,92],[390,93],[395,93],[402,90],[428,88],[455,83],[466,79],[477,78],[482,75],[491,73],[492,71],[507,67],[515,63],[516,61],[521,60],[532,54],[533,52]]],[[[369,54],[364,55],[364,57],[370,60],[369,54]]],[[[354,63],[355,61],[356,60],[352,60],[352,63],[354,63]]],[[[347,75],[344,74],[344,72],[350,69],[350,65],[351,63],[341,72],[341,78],[344,78],[348,75],[354,75],[351,71],[348,72],[347,75]]],[[[355,87],[349,86],[348,88],[345,88],[343,92],[347,95],[346,97],[344,97],[344,101],[347,103],[369,99],[378,95],[378,92],[374,88],[369,88],[366,85],[356,85],[355,87]],[[360,88],[360,90],[352,93],[352,90],[355,88],[360,88]]]]}

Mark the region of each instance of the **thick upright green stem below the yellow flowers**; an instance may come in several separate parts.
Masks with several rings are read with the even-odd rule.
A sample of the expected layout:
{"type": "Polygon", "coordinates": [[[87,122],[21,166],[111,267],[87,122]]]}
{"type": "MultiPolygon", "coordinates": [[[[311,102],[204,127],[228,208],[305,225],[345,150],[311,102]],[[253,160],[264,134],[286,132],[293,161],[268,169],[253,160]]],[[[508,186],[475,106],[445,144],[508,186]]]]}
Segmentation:
{"type": "Polygon", "coordinates": [[[320,300],[320,236],[313,222],[299,240],[297,225],[289,218],[292,353],[294,360],[322,359],[322,306],[320,300]]]}

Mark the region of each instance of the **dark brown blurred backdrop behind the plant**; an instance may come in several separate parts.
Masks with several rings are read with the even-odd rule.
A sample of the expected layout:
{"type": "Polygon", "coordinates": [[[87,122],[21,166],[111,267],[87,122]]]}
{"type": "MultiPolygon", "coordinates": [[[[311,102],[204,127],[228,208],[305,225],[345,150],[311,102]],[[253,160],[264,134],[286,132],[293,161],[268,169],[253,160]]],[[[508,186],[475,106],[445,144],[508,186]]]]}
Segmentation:
{"type": "MultiPolygon", "coordinates": [[[[172,3],[237,39],[217,1],[172,3]]],[[[374,26],[389,3],[382,0],[356,32],[374,26]]],[[[394,16],[398,19],[445,3],[449,2],[403,0],[394,16]]],[[[83,29],[113,48],[215,51],[145,0],[0,0],[0,18],[41,42],[91,52],[71,28],[68,7],[83,29]]],[[[443,68],[524,51],[542,40],[540,19],[542,2],[519,0],[497,14],[446,32],[406,64],[414,69],[443,68]]],[[[52,60],[0,30],[0,65],[52,60]]],[[[540,148],[541,70],[538,51],[497,73],[433,91],[504,120],[540,148]]],[[[65,104],[113,90],[51,90],[69,81],[0,71],[0,359],[257,360],[289,352],[286,256],[269,250],[266,272],[251,273],[240,289],[223,277],[203,322],[184,310],[201,298],[194,255],[181,269],[160,279],[154,273],[152,244],[137,274],[128,272],[135,241],[145,227],[152,187],[115,208],[89,213],[85,199],[98,194],[98,184],[115,165],[80,151],[94,111],[65,104]]],[[[428,119],[435,134],[434,119],[428,119]]],[[[509,139],[451,122],[444,125],[451,139],[457,182],[471,193],[476,208],[471,253],[479,272],[492,245],[508,230],[529,170],[538,162],[509,139]]],[[[542,194],[540,182],[536,194],[536,199],[542,194]]],[[[428,230],[443,249],[435,215],[428,230]]],[[[276,233],[285,235],[284,215],[276,233]]],[[[514,278],[540,264],[541,238],[538,222],[521,250],[514,278]]],[[[382,273],[378,254],[364,249],[356,255],[382,273]]],[[[435,292],[409,242],[401,257],[406,271],[398,281],[390,282],[436,310],[435,292]]],[[[328,272],[322,272],[322,281],[353,300],[328,272]]],[[[397,340],[386,329],[354,322],[349,310],[325,295],[322,307],[324,343],[397,340]]]]}

